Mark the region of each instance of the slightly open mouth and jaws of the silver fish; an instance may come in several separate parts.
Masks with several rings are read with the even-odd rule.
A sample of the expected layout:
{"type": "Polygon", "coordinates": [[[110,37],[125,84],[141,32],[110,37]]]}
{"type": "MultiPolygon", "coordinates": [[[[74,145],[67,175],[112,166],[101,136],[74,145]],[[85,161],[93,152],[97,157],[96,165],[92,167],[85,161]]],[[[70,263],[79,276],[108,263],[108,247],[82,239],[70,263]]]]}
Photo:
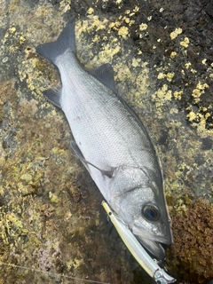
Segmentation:
{"type": "Polygon", "coordinates": [[[172,242],[171,232],[170,230],[167,231],[165,235],[161,236],[153,233],[149,228],[137,221],[132,226],[132,233],[137,237],[138,241],[158,260],[166,258],[164,245],[168,246],[172,242]]]}

